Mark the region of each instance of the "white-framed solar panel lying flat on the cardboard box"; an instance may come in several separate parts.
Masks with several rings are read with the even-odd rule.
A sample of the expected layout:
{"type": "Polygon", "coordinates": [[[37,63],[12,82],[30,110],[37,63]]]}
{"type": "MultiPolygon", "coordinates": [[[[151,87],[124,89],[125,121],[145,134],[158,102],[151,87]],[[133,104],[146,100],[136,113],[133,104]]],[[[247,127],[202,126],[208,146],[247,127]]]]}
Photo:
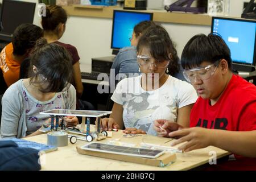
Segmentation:
{"type": "Polygon", "coordinates": [[[147,148],[136,148],[126,146],[115,146],[113,144],[91,142],[81,147],[82,150],[105,152],[110,154],[138,156],[142,158],[158,158],[164,154],[163,150],[152,150],[147,148]]]}

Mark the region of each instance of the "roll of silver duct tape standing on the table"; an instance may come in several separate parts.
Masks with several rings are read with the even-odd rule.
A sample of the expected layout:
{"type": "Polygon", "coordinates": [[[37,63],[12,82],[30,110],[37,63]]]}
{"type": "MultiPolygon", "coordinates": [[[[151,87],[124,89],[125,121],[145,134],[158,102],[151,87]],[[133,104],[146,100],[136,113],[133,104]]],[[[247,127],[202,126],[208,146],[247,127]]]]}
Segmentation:
{"type": "Polygon", "coordinates": [[[56,147],[68,145],[68,134],[64,131],[51,131],[47,133],[47,144],[56,147]]]}

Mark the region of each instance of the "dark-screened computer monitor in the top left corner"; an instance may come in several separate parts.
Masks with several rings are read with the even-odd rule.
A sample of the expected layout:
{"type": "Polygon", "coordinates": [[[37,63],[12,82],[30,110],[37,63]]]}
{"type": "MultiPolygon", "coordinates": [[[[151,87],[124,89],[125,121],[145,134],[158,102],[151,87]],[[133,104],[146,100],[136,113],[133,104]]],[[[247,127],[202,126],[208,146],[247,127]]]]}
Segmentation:
{"type": "Polygon", "coordinates": [[[36,3],[3,0],[1,10],[2,30],[0,40],[11,41],[16,27],[33,23],[36,3]]]}

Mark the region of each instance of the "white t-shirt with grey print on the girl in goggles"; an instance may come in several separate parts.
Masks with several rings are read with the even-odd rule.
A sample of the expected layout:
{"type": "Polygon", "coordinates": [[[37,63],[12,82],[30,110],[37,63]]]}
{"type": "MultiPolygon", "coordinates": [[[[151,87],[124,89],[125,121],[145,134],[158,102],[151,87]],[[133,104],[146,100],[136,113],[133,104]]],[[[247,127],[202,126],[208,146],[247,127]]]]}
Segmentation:
{"type": "Polygon", "coordinates": [[[135,127],[156,135],[155,119],[177,121],[177,109],[193,104],[197,100],[196,90],[191,84],[169,76],[156,90],[145,91],[141,87],[141,76],[121,80],[111,99],[123,105],[125,127],[135,127]]]}

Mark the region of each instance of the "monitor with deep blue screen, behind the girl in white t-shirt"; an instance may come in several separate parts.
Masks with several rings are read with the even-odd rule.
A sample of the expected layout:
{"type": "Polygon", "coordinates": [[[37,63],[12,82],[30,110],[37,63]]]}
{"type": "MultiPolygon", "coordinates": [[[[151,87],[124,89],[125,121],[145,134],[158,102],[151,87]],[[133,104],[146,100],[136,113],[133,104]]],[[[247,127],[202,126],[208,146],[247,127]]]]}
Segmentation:
{"type": "Polygon", "coordinates": [[[152,13],[114,10],[111,40],[113,54],[117,54],[120,48],[131,46],[129,38],[133,35],[133,28],[136,24],[144,20],[152,20],[152,18],[152,13]]]}

